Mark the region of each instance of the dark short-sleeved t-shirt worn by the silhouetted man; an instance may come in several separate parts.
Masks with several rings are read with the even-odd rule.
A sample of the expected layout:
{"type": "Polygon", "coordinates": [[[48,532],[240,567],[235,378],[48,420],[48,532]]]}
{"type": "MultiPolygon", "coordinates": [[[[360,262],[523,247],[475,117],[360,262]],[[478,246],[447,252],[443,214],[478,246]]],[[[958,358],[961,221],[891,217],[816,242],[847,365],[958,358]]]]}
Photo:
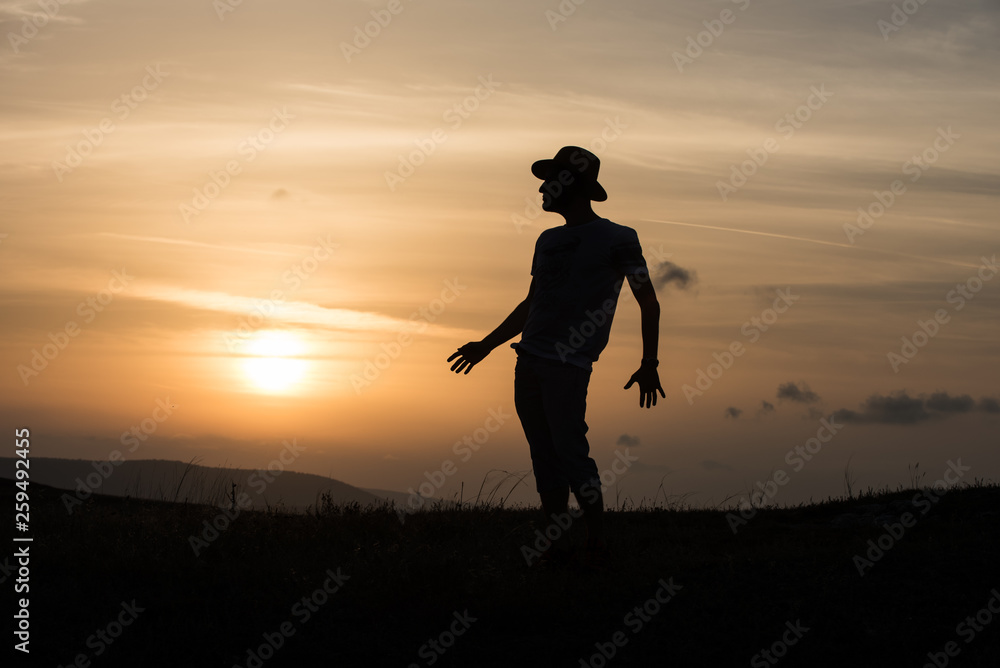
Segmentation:
{"type": "Polygon", "coordinates": [[[626,277],[648,280],[639,236],[607,218],[562,225],[535,243],[535,291],[521,340],[511,348],[592,369],[608,345],[626,277]]]}

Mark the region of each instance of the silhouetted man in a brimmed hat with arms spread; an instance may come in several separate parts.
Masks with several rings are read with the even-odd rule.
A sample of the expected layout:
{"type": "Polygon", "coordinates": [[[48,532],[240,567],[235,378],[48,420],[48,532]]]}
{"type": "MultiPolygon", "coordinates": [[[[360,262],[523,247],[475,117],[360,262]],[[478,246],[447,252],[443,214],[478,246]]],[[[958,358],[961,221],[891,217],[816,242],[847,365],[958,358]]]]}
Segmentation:
{"type": "MultiPolygon", "coordinates": [[[[588,560],[606,560],[604,501],[597,464],[587,442],[587,385],[593,363],[608,343],[622,284],[628,281],[641,311],[642,361],[624,389],[639,384],[639,406],[666,398],[657,374],[660,305],[635,230],[594,213],[591,201],[607,193],[597,181],[600,160],[566,146],[531,172],[542,179],[542,208],[565,225],[547,229],[535,243],[528,296],[482,341],[459,348],[451,370],[469,373],[494,348],[517,334],[514,406],[531,452],[536,489],[549,520],[565,517],[572,491],[587,527],[588,560]]],[[[569,551],[558,545],[544,563],[561,563],[569,551]]]]}

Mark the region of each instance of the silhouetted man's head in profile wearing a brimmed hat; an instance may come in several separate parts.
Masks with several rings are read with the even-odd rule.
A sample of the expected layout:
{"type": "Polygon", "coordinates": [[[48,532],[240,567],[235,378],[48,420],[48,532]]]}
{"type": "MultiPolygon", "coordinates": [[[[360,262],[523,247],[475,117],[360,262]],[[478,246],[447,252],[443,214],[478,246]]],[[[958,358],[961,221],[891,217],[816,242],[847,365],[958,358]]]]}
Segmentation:
{"type": "Polygon", "coordinates": [[[542,179],[538,189],[542,193],[542,208],[563,213],[590,201],[603,202],[607,192],[597,182],[601,161],[590,151],[579,146],[564,146],[551,160],[539,160],[531,166],[531,173],[542,179]]]}

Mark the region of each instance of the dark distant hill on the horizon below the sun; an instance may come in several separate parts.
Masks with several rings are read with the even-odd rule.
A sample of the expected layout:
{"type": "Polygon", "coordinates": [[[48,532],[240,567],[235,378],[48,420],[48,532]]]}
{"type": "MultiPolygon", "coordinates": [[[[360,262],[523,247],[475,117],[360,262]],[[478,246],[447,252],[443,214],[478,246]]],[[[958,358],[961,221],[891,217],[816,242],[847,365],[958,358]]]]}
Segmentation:
{"type": "MultiPolygon", "coordinates": [[[[14,478],[14,459],[0,457],[0,477],[14,478]]],[[[255,510],[282,505],[303,511],[329,494],[336,504],[357,502],[379,504],[391,497],[405,499],[398,492],[366,491],[333,478],[294,471],[210,468],[162,459],[130,460],[115,463],[85,459],[31,458],[31,482],[63,490],[85,490],[111,496],[189,503],[228,503],[236,484],[237,501],[245,494],[255,510]]],[[[79,493],[78,496],[85,496],[79,493]]]]}

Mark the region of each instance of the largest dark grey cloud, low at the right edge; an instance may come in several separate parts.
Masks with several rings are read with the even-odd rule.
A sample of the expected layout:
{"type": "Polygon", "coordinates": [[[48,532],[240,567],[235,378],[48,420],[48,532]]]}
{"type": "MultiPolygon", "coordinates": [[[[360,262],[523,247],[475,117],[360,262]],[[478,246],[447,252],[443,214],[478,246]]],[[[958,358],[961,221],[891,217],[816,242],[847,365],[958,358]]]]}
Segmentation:
{"type": "Polygon", "coordinates": [[[890,395],[873,394],[861,404],[860,411],[843,408],[833,415],[843,422],[860,424],[916,424],[974,410],[997,413],[1000,405],[992,397],[983,397],[977,405],[967,394],[952,396],[947,392],[934,392],[929,397],[912,397],[906,390],[900,390],[890,395]]]}

